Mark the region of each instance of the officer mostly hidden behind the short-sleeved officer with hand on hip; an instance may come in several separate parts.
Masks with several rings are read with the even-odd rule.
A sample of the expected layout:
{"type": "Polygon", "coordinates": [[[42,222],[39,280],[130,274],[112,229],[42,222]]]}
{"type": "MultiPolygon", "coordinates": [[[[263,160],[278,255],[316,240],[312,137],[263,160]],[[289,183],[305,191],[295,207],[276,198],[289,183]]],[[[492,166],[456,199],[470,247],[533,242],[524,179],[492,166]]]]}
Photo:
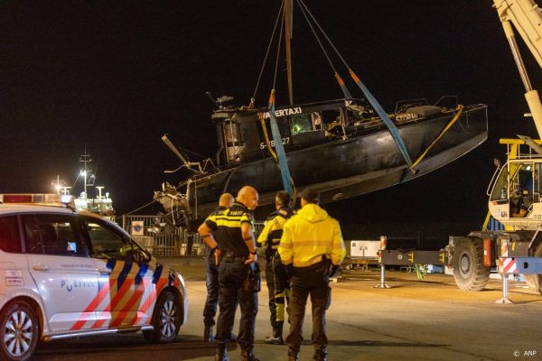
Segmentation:
{"type": "MultiPolygon", "coordinates": [[[[226,208],[230,208],[233,204],[233,196],[229,193],[224,193],[219,199],[219,208],[216,208],[212,214],[223,214],[226,208]]],[[[205,269],[205,286],[207,287],[207,300],[203,308],[203,341],[211,342],[214,340],[213,326],[215,325],[214,317],[217,314],[217,304],[219,303],[219,269],[217,267],[214,251],[211,251],[209,246],[205,246],[207,255],[207,267],[205,269]]]]}

